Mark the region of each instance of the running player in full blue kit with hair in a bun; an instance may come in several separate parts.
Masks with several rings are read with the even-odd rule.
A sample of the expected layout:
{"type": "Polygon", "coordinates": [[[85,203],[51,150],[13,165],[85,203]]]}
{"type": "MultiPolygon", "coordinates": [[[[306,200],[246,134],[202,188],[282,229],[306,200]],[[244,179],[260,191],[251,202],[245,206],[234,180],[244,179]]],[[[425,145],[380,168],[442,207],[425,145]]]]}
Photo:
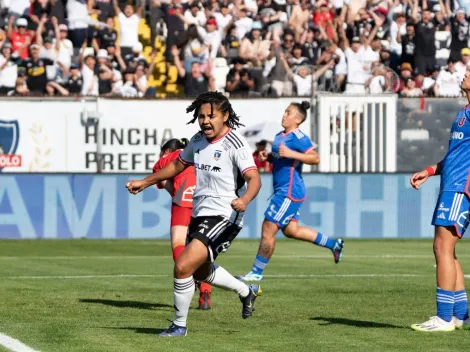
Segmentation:
{"type": "Polygon", "coordinates": [[[274,195],[264,213],[261,244],[251,271],[239,277],[243,281],[260,281],[263,270],[273,255],[275,236],[280,229],[289,238],[314,243],[329,248],[335,262],[341,260],[343,241],[331,239],[320,232],[299,226],[299,209],[306,197],[302,179],[302,164],[315,165],[320,162],[316,145],[299,130],[305,121],[310,104],[306,101],[290,104],[282,116],[284,131],[274,139],[272,153],[262,155],[273,163],[274,195]]]}

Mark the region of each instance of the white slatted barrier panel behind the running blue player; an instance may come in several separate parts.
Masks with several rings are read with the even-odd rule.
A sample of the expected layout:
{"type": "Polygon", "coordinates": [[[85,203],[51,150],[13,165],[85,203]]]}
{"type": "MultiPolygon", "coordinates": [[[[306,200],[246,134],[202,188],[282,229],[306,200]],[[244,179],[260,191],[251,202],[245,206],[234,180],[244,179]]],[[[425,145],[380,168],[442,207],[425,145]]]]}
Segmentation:
{"type": "Polygon", "coordinates": [[[397,171],[397,96],[319,94],[320,172],[397,171]]]}

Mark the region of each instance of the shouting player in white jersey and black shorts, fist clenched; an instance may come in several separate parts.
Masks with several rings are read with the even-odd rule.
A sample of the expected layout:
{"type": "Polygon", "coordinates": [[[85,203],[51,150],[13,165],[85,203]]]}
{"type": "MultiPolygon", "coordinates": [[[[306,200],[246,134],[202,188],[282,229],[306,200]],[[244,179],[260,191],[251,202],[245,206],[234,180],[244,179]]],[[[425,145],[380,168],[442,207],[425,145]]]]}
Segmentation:
{"type": "Polygon", "coordinates": [[[242,124],[228,99],[218,92],[199,95],[186,112],[194,112],[190,123],[198,120],[201,131],[193,136],[179,158],[145,179],[129,181],[126,185],[130,193],[137,194],[175,177],[190,165],[196,171],[188,244],[175,262],[175,318],[160,334],[163,337],[187,334],[194,279],[236,292],[242,302],[244,319],[252,315],[255,299],[261,294],[260,286],[247,286],[213,264],[240,232],[246,207],[261,187],[251,148],[234,131],[242,124]],[[246,191],[238,196],[245,182],[246,191]]]}

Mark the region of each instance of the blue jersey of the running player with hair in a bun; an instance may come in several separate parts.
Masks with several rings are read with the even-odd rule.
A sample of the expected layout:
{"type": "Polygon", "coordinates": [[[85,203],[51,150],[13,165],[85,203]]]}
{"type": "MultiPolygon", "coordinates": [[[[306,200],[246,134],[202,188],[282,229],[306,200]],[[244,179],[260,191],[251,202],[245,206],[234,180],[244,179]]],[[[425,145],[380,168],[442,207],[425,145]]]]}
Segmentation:
{"type": "Polygon", "coordinates": [[[308,153],[316,147],[316,144],[299,129],[289,133],[279,132],[273,141],[271,153],[273,156],[274,193],[288,197],[294,202],[301,202],[306,195],[302,179],[303,164],[298,160],[281,158],[279,156],[281,144],[299,153],[308,153]]]}

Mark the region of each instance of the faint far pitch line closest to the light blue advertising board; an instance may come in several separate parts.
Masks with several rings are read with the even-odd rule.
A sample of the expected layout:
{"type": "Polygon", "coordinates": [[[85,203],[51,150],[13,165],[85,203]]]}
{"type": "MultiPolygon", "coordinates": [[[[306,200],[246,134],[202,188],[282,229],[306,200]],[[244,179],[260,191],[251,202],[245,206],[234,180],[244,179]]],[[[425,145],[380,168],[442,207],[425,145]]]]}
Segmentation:
{"type": "MultiPolygon", "coordinates": [[[[255,254],[228,254],[227,257],[230,258],[254,258],[255,254]]],[[[76,260],[76,259],[168,259],[173,258],[171,255],[68,255],[68,256],[0,256],[0,260],[27,260],[27,259],[43,259],[43,260],[76,260]]],[[[331,258],[331,254],[329,255],[276,255],[276,258],[284,258],[284,259],[325,259],[331,258]]],[[[434,259],[434,255],[432,254],[383,254],[383,255],[367,255],[367,254],[359,254],[359,255],[347,255],[345,258],[349,259],[419,259],[419,258],[432,258],[434,259]]],[[[459,258],[470,258],[470,254],[461,255],[459,254],[459,258]]]]}

